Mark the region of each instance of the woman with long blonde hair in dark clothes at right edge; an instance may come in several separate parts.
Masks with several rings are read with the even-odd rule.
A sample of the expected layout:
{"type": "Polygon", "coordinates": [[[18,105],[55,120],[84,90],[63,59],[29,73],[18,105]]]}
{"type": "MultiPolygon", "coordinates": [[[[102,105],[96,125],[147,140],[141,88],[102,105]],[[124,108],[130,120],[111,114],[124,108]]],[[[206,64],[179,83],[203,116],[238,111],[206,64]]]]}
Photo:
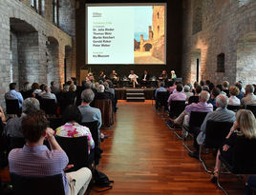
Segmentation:
{"type": "Polygon", "coordinates": [[[225,138],[224,146],[217,153],[214,172],[211,176],[211,182],[216,183],[219,177],[221,167],[220,155],[224,160],[232,165],[232,157],[234,146],[238,136],[243,136],[246,139],[256,139],[256,120],[253,113],[248,109],[240,109],[236,114],[236,121],[230,128],[230,132],[225,138]]]}

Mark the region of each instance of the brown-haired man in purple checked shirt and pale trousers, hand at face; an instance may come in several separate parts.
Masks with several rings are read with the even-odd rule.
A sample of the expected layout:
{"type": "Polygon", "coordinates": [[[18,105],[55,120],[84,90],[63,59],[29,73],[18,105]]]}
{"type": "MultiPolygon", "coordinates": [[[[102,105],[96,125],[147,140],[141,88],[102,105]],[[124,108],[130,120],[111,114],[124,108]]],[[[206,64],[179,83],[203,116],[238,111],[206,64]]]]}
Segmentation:
{"type": "Polygon", "coordinates": [[[26,145],[23,148],[11,150],[9,154],[10,172],[37,177],[62,174],[65,194],[72,194],[71,189],[74,190],[74,194],[84,194],[92,179],[91,170],[83,167],[77,171],[65,173],[64,170],[72,165],[68,165],[69,159],[57,144],[53,129],[47,126],[48,121],[41,111],[23,119],[22,131],[26,145]],[[51,150],[43,145],[44,140],[49,142],[51,150]]]}

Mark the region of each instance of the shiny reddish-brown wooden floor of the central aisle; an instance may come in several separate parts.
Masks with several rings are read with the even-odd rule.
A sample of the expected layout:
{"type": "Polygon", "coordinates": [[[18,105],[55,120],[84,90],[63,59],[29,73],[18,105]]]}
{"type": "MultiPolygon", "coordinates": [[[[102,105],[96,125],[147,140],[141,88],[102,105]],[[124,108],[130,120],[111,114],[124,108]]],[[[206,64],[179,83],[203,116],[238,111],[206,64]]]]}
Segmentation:
{"type": "MultiPolygon", "coordinates": [[[[98,167],[115,184],[109,191],[92,191],[92,195],[224,194],[209,182],[210,175],[199,161],[187,155],[151,101],[118,101],[117,107],[115,126],[103,130],[111,137],[102,143],[104,152],[98,167]]],[[[235,183],[229,187],[239,184],[233,177],[235,183]]],[[[243,194],[243,187],[229,192],[243,194]]]]}

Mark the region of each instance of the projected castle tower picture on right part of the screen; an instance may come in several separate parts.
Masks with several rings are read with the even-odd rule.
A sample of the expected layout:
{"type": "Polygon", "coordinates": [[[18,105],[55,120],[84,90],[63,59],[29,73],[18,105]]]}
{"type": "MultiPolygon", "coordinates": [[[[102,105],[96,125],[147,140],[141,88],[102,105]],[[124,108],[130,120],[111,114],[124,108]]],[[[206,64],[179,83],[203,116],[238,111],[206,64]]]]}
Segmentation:
{"type": "Polygon", "coordinates": [[[135,64],[164,64],[164,14],[164,6],[143,7],[136,10],[135,64]]]}

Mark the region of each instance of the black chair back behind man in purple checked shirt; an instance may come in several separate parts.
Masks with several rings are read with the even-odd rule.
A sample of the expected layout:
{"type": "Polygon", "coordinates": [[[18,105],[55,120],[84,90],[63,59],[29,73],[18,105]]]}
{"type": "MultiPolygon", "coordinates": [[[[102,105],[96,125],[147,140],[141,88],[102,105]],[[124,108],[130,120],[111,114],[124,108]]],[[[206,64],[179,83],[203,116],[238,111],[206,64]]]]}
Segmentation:
{"type": "Polygon", "coordinates": [[[11,173],[13,195],[65,195],[63,176],[21,176],[11,173]]]}

